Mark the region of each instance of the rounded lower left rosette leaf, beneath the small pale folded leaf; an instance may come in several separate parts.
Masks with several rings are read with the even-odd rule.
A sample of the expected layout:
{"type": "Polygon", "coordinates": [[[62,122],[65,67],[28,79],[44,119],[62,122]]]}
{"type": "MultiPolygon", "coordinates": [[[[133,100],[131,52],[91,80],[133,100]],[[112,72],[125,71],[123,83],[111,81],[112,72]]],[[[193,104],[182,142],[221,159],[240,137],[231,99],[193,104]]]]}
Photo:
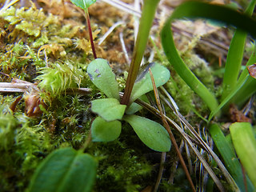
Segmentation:
{"type": "Polygon", "coordinates": [[[103,118],[94,119],[91,125],[93,142],[111,142],[121,134],[122,124],[119,121],[106,122],[103,118]]]}

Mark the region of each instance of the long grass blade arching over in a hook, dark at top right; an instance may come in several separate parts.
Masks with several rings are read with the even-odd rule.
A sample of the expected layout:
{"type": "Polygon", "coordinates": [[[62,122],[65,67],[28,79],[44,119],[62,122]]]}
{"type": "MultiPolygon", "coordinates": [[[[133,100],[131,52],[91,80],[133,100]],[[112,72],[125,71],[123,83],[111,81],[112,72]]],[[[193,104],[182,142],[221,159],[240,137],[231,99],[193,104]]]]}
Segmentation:
{"type": "Polygon", "coordinates": [[[174,66],[174,69],[183,78],[186,84],[190,86],[190,88],[206,102],[210,110],[213,111],[218,106],[216,98],[182,61],[174,45],[170,24],[174,19],[178,18],[210,18],[237,26],[241,28],[241,30],[246,30],[254,36],[256,36],[256,28],[252,26],[256,25],[256,21],[246,14],[241,14],[226,6],[190,1],[184,2],[181,6],[178,6],[163,26],[161,33],[162,46],[170,64],[174,66]]]}

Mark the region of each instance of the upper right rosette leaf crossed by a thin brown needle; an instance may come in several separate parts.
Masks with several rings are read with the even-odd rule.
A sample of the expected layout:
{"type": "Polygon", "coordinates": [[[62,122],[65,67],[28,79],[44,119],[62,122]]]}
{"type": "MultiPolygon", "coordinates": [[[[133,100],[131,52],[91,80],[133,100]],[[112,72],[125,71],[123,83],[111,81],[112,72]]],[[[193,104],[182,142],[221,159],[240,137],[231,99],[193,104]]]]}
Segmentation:
{"type": "Polygon", "coordinates": [[[154,75],[154,81],[157,87],[162,86],[169,80],[170,71],[156,62],[151,62],[146,66],[146,69],[138,75],[130,95],[130,103],[134,102],[137,98],[142,96],[142,94],[146,94],[147,92],[150,92],[150,90],[153,90],[149,68],[154,75]]]}

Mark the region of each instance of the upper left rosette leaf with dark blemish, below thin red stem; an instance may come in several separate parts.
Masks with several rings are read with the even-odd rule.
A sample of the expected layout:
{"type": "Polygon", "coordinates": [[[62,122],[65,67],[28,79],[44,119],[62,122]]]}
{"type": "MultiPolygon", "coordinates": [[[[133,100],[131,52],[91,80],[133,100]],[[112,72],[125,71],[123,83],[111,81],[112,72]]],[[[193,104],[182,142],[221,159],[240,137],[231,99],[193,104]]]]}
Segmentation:
{"type": "Polygon", "coordinates": [[[108,98],[119,100],[118,82],[115,80],[115,75],[105,59],[96,58],[90,62],[87,73],[94,85],[108,98]]]}

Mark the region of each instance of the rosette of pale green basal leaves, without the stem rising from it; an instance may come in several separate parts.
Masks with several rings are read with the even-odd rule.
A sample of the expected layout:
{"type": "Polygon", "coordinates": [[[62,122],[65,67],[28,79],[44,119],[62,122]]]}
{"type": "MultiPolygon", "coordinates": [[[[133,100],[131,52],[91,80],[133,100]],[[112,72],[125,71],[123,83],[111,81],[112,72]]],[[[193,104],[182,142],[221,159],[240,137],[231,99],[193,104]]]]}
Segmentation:
{"type": "MultiPolygon", "coordinates": [[[[162,86],[170,78],[170,72],[164,66],[158,63],[150,63],[138,76],[134,84],[134,90],[130,96],[132,102],[153,90],[149,67],[155,76],[156,86],[162,86]]],[[[108,96],[108,98],[91,102],[91,110],[100,116],[91,125],[94,142],[109,142],[118,138],[121,134],[121,123],[118,120],[124,120],[133,127],[135,133],[138,134],[138,138],[150,149],[157,151],[170,150],[170,138],[163,126],[132,113],[124,115],[127,106],[119,102],[119,96],[117,97],[119,95],[118,82],[113,78],[114,73],[105,59],[97,58],[90,62],[87,73],[94,85],[108,96]]],[[[132,107],[130,106],[130,108],[132,107]]],[[[133,110],[134,113],[136,111],[133,110]]]]}

